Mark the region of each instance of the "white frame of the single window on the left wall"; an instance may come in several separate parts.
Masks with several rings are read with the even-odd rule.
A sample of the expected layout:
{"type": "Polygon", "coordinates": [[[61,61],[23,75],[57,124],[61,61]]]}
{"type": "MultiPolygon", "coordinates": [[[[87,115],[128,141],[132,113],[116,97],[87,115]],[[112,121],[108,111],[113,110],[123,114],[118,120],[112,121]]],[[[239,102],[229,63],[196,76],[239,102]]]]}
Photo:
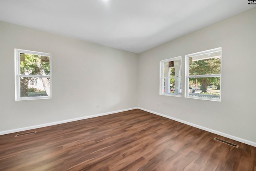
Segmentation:
{"type": "Polygon", "coordinates": [[[14,49],[15,57],[15,100],[33,100],[33,99],[51,99],[52,98],[52,55],[44,52],[36,52],[30,50],[14,49]],[[20,74],[20,54],[35,54],[41,56],[50,56],[50,75],[23,75],[20,74]],[[50,96],[36,96],[36,97],[20,97],[20,77],[31,77],[31,78],[50,78],[50,96]]]}

